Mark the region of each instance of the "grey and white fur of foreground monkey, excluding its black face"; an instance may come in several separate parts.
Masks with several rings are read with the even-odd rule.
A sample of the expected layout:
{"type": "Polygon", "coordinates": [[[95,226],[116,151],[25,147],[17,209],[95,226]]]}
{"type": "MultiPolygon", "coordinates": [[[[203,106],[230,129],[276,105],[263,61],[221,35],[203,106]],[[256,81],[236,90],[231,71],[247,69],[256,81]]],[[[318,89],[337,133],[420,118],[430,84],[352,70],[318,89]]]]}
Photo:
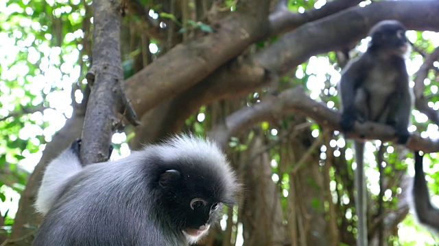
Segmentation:
{"type": "Polygon", "coordinates": [[[163,194],[156,185],[157,174],[174,167],[174,162],[189,169],[180,165],[184,160],[215,177],[212,182],[217,182],[224,197],[239,189],[224,154],[213,143],[191,136],[174,137],[125,159],[60,176],[62,172],[52,166],[79,163],[77,156],[65,161],[66,156],[72,157],[70,149],[47,167],[43,184],[57,176],[60,182],[42,185],[38,192],[36,207],[48,212],[33,245],[188,245],[159,204],[163,194]]]}

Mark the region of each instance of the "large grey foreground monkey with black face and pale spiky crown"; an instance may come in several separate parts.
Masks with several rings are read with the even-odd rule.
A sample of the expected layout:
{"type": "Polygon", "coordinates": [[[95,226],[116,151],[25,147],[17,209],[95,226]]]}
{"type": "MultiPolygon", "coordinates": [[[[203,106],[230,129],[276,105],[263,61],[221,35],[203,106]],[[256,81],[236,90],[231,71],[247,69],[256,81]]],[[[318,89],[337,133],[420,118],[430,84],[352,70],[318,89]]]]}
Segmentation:
{"type": "Polygon", "coordinates": [[[45,171],[33,245],[189,245],[235,203],[239,184],[209,141],[174,137],[82,167],[76,141],[45,171]]]}

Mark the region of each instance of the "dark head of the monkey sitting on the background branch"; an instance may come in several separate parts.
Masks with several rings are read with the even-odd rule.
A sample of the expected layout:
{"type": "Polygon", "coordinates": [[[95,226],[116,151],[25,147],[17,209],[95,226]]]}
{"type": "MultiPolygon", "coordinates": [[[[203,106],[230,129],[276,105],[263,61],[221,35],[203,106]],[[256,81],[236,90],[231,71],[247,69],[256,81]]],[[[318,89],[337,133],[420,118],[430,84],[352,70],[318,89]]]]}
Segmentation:
{"type": "Polygon", "coordinates": [[[396,20],[379,22],[370,31],[370,49],[380,49],[404,54],[407,51],[405,27],[396,20]]]}

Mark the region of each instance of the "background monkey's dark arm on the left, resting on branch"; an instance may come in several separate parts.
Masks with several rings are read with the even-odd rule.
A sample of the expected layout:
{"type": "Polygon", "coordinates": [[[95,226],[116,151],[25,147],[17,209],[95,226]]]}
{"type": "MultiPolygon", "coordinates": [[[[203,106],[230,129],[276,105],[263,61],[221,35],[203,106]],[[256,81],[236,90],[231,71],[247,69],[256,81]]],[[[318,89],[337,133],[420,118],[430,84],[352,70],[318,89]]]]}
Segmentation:
{"type": "Polygon", "coordinates": [[[361,66],[365,63],[361,57],[346,66],[342,79],[340,79],[340,94],[342,98],[342,118],[340,126],[342,131],[352,131],[357,120],[357,108],[355,107],[356,89],[361,84],[361,66]]]}

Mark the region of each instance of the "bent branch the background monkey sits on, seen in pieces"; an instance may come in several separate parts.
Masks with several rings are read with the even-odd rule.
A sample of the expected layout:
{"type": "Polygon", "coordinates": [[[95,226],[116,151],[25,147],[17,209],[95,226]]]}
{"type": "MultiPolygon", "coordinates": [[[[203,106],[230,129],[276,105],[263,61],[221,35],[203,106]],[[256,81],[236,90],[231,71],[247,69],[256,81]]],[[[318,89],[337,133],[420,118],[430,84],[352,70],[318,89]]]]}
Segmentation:
{"type": "MultiPolygon", "coordinates": [[[[226,146],[230,136],[245,131],[257,122],[273,122],[289,113],[306,115],[324,126],[324,128],[340,131],[340,113],[312,100],[299,86],[232,113],[226,118],[225,126],[220,125],[213,128],[209,135],[220,146],[226,146]]],[[[394,128],[374,122],[365,122],[363,124],[355,122],[353,132],[346,133],[345,136],[346,138],[380,139],[382,141],[396,140],[394,128]]],[[[439,141],[424,139],[417,134],[413,134],[406,147],[412,150],[422,150],[423,152],[439,152],[439,141]]]]}

